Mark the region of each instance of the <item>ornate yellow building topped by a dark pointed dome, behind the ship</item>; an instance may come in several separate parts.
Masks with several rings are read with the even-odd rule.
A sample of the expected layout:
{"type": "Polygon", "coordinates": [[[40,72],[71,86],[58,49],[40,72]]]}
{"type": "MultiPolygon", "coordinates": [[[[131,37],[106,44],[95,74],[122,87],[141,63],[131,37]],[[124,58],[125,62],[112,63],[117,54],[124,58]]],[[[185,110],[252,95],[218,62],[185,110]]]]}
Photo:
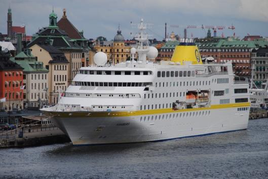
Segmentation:
{"type": "Polygon", "coordinates": [[[110,63],[120,63],[130,58],[130,48],[125,44],[125,38],[123,37],[120,28],[114,36],[113,41],[100,41],[96,42],[94,46],[97,52],[104,52],[108,57],[110,63]]]}

